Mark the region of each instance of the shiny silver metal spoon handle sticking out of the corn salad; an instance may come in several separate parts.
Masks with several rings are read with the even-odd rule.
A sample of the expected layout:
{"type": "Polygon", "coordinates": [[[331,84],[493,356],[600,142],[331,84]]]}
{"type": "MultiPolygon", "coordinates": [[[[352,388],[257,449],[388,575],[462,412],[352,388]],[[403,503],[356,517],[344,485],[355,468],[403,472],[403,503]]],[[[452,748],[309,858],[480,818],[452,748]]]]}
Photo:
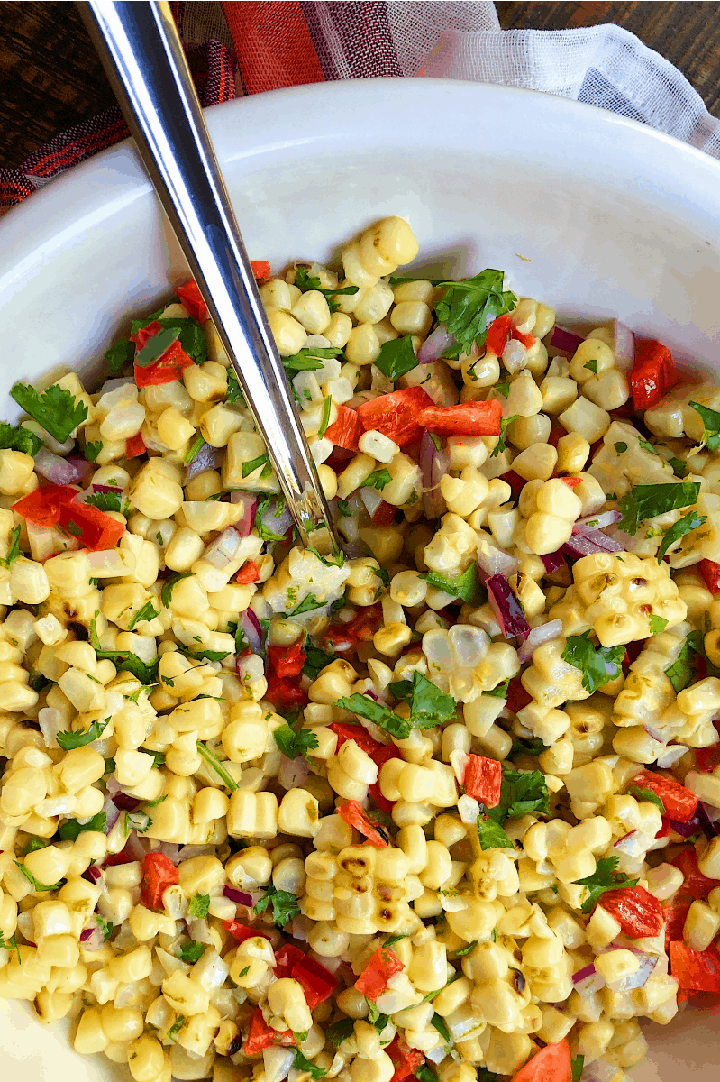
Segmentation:
{"type": "Polygon", "coordinates": [[[303,544],[339,552],[170,4],[77,4],[230,359],[303,544]]]}

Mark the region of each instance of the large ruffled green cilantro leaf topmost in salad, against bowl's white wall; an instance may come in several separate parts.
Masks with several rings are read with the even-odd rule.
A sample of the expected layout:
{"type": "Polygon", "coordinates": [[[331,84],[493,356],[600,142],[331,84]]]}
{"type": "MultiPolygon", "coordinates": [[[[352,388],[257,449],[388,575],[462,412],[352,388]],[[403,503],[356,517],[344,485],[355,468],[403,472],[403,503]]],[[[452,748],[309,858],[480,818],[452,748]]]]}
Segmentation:
{"type": "Polygon", "coordinates": [[[518,299],[515,293],[503,292],[504,273],[485,268],[465,281],[443,281],[446,286],[442,300],[435,311],[455,342],[444,351],[445,357],[459,357],[470,353],[475,345],[484,345],[491,322],[507,312],[512,312],[518,299]]]}

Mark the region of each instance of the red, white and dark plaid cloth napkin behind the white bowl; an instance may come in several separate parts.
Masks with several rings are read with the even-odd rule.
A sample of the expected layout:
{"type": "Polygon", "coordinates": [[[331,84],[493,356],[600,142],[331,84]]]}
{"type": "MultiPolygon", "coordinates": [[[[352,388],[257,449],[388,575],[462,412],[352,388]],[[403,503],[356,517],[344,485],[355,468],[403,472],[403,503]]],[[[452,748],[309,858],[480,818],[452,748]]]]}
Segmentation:
{"type": "MultiPolygon", "coordinates": [[[[499,28],[485,0],[175,0],[204,106],[333,79],[434,76],[525,87],[641,120],[720,158],[720,121],[684,76],[612,24],[499,28]]],[[[0,208],[128,137],[119,108],[0,169],[0,208]]]]}

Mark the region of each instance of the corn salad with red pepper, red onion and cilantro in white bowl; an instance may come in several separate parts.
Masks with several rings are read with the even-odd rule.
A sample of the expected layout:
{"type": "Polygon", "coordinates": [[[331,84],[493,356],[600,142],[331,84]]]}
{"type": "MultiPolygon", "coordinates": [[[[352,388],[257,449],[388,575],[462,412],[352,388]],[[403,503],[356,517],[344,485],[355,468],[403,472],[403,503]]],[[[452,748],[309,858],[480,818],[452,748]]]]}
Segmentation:
{"type": "Polygon", "coordinates": [[[622,1082],[720,990],[720,391],[485,269],[194,282],[0,430],[0,995],[135,1082],[622,1082]],[[716,410],[717,407],[717,410],[716,410]]]}

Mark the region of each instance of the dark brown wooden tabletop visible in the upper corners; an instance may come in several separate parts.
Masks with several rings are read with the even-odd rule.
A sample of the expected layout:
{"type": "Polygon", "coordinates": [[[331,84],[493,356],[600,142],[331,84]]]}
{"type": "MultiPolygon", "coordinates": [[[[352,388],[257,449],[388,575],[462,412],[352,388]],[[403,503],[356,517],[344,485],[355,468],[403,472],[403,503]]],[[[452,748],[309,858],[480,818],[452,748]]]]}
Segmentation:
{"type": "MultiPolygon", "coordinates": [[[[504,29],[624,26],[679,67],[711,113],[720,110],[717,0],[499,0],[496,6],[504,29]]],[[[0,166],[18,166],[53,135],[112,103],[72,3],[0,0],[0,166]]]]}

